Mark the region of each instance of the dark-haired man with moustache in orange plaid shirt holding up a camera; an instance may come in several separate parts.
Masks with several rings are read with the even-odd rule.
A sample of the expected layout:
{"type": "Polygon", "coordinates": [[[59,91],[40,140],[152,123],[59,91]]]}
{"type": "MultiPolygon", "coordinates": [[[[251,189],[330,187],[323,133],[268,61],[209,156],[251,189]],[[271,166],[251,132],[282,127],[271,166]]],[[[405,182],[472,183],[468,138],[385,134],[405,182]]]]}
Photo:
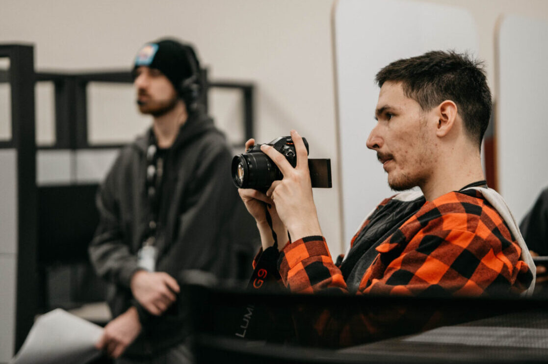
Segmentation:
{"type": "MultiPolygon", "coordinates": [[[[393,190],[418,186],[422,193],[402,192],[382,201],[352,238],[344,259],[334,263],[312,198],[306,149],[293,130],[296,167],[262,145],[283,179],[266,194],[239,190],[261,235],[263,252],[255,265],[276,266],[283,285],[301,293],[328,288],[442,296],[532,292],[530,254],[504,200],[487,188],[483,176],[480,148],[492,106],[481,66],[466,55],[429,52],[392,62],[376,82],[377,123],[367,146],[377,153],[393,190]],[[276,249],[279,254],[267,254],[276,249]]],[[[393,323],[403,314],[389,316],[393,323]]],[[[316,337],[308,338],[316,343],[357,344],[391,329],[376,325],[379,317],[367,310],[352,321],[361,325],[357,330],[333,317],[316,319],[316,337]]]]}

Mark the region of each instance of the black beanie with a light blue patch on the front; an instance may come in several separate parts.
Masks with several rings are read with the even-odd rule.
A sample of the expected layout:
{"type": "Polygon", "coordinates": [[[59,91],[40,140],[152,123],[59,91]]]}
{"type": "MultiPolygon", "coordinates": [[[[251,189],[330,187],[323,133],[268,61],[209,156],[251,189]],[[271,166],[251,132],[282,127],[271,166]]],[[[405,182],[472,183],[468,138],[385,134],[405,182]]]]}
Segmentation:
{"type": "Polygon", "coordinates": [[[161,71],[179,95],[182,82],[199,72],[199,61],[192,46],[174,39],[159,39],[143,45],[135,57],[133,75],[139,66],[161,71]]]}

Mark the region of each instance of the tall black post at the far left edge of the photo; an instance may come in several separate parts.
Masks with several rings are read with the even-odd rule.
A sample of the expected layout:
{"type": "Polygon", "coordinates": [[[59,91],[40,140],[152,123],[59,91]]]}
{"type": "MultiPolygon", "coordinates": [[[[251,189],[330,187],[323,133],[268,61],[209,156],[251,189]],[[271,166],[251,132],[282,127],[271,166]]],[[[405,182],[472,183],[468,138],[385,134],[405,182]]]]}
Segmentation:
{"type": "Polygon", "coordinates": [[[35,71],[32,45],[0,45],[0,58],[9,58],[12,138],[1,148],[17,150],[17,268],[15,351],[19,350],[36,314],[37,187],[35,143],[35,71]]]}

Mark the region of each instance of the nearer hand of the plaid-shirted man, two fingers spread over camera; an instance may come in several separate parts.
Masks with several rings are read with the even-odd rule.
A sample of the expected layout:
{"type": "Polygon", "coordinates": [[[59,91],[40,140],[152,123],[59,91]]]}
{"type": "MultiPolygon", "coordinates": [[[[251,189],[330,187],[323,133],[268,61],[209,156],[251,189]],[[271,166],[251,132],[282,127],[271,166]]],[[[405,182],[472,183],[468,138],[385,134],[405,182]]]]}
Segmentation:
{"type": "Polygon", "coordinates": [[[295,130],[291,131],[291,137],[297,155],[295,168],[273,147],[263,144],[261,151],[276,163],[283,174],[283,179],[274,181],[266,195],[274,201],[279,218],[295,241],[305,236],[322,235],[322,230],[312,196],[306,146],[295,130]]]}

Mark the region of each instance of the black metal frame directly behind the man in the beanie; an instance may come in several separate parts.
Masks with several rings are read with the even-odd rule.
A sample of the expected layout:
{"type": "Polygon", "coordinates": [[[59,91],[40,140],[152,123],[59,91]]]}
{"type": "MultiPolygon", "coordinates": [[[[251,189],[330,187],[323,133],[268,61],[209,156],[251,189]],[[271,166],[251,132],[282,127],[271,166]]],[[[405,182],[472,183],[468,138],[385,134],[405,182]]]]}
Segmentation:
{"type": "MultiPolygon", "coordinates": [[[[245,139],[234,147],[242,147],[253,136],[254,126],[254,84],[244,82],[208,82],[207,70],[202,71],[206,85],[202,103],[208,106],[207,92],[212,88],[239,89],[243,94],[245,139]]],[[[89,82],[132,83],[127,70],[98,71],[84,73],[37,72],[36,81],[51,81],[55,84],[55,144],[38,146],[38,149],[111,149],[123,144],[93,144],[88,141],[87,85],[89,82]],[[74,122],[76,121],[76,122],[74,122]]],[[[0,74],[0,82],[2,77],[0,74]]]]}

